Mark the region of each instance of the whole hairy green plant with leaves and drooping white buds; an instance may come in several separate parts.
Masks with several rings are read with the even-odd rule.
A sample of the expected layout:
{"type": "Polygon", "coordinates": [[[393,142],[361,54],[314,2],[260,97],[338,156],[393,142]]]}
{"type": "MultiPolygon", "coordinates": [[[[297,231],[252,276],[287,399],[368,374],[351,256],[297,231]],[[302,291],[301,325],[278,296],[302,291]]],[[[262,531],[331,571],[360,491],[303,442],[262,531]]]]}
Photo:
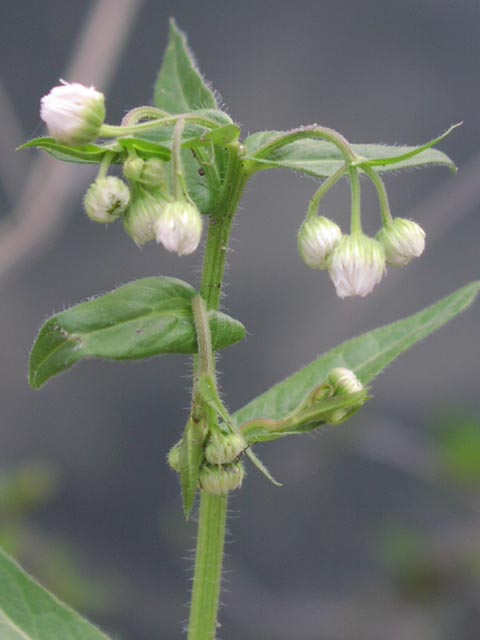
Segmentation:
{"type": "MultiPolygon", "coordinates": [[[[403,266],[424,249],[418,224],[392,216],[382,174],[431,165],[455,169],[434,149],[451,129],[416,147],[350,144],[319,125],[241,139],[173,22],[153,106],[132,109],[119,126],[106,124],[100,92],[64,83],[42,99],[41,116],[51,137],[31,140],[24,148],[99,165],[84,200],[91,220],[122,220],[136,244],[156,240],[178,255],[196,251],[203,220],[208,221],[198,290],[176,278],[147,277],[53,316],[35,341],[30,383],[39,388],[84,358],[193,356],[190,414],[168,462],[179,475],[185,516],[190,517],[197,496],[200,503],[188,639],[213,640],[228,496],[244,481],[245,459],[279,484],[253,447],[348,420],[369,400],[367,385],[375,376],[465,309],[480,288],[471,283],[409,318],[339,345],[232,414],[219,391],[215,352],[245,335],[238,320],[219,311],[232,222],[245,186],[257,173],[275,168],[321,179],[305,220],[299,221],[300,255],[308,267],[328,270],[341,298],[366,296],[386,267],[403,266]],[[122,168],[123,178],[109,175],[115,166],[122,168]],[[382,228],[375,238],[362,230],[361,177],[378,193],[382,228]],[[348,234],[319,211],[326,193],[342,179],[351,188],[348,234]]],[[[105,640],[10,559],[1,555],[0,560],[0,596],[12,629],[37,637],[29,635],[28,626],[37,616],[40,625],[50,625],[49,638],[105,640]],[[28,593],[25,600],[35,603],[24,611],[9,596],[19,585],[28,593]],[[42,619],[46,609],[53,622],[42,619]]]]}

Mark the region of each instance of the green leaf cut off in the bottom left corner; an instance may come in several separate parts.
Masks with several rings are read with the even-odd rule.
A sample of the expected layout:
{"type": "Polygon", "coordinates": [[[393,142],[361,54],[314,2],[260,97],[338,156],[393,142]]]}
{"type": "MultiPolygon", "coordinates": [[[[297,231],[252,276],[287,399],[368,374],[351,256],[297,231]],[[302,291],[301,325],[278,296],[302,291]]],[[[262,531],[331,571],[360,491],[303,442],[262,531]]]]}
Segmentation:
{"type": "Polygon", "coordinates": [[[57,600],[0,549],[2,640],[108,640],[57,600]]]}

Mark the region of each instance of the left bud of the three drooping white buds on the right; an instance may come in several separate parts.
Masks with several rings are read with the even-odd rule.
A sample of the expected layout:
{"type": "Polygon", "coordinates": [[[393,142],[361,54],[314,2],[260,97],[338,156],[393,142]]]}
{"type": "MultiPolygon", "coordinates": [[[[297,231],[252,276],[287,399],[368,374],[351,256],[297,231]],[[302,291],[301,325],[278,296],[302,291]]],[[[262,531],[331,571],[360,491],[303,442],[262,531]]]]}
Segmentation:
{"type": "Polygon", "coordinates": [[[325,269],[326,259],[342,237],[340,227],[323,216],[305,220],[298,232],[298,250],[311,269],[325,269]]]}

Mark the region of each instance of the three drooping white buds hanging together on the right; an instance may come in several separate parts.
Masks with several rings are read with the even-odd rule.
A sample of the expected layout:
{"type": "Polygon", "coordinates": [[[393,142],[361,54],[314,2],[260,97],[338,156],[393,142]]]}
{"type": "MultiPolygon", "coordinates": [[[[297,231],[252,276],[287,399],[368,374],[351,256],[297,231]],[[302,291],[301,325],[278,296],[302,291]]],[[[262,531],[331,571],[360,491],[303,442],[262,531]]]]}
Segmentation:
{"type": "Polygon", "coordinates": [[[342,235],[323,216],[307,218],[298,233],[298,248],[311,269],[328,269],[340,298],[368,295],[383,278],[386,265],[404,266],[422,254],[425,233],[412,220],[394,218],[376,238],[342,235]]]}

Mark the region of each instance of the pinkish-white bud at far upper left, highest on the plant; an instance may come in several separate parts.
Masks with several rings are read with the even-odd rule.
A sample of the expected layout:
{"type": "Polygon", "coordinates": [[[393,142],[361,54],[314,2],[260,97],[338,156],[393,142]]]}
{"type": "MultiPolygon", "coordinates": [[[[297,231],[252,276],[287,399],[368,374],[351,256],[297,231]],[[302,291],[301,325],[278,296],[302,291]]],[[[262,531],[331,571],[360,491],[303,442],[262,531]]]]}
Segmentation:
{"type": "Polygon", "coordinates": [[[57,142],[87,144],[97,138],[105,120],[105,97],[93,87],[64,82],[43,96],[40,117],[57,142]]]}

